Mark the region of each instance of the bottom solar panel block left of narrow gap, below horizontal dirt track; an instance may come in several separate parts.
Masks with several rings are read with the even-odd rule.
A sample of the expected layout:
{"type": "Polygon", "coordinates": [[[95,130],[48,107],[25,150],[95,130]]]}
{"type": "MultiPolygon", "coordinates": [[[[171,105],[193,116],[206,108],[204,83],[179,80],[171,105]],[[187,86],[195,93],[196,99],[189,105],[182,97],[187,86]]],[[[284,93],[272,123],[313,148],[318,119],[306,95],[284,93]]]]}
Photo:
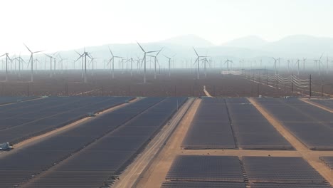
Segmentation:
{"type": "Polygon", "coordinates": [[[244,182],[244,177],[236,156],[179,155],[166,180],[244,182]]]}

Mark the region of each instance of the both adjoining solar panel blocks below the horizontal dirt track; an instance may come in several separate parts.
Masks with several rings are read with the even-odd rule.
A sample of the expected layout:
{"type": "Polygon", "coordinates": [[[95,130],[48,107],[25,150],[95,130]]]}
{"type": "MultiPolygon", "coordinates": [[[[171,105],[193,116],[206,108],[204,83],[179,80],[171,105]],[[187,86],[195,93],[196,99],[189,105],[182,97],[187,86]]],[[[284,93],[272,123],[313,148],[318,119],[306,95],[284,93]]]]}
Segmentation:
{"type": "Polygon", "coordinates": [[[180,155],[166,180],[162,187],[330,187],[302,157],[180,155]]]}

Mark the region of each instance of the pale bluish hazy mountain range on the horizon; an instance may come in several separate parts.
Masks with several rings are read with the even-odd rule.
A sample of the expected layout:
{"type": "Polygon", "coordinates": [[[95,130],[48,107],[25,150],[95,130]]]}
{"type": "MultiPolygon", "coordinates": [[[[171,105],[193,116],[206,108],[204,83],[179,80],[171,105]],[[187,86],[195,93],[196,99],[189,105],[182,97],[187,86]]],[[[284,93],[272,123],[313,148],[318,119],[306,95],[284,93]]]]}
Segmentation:
{"type": "MultiPolygon", "coordinates": [[[[86,49],[94,52],[100,58],[107,58],[110,56],[107,46],[110,46],[117,56],[142,56],[142,51],[137,43],[105,44],[103,46],[89,46],[86,49]]],[[[273,42],[265,41],[258,36],[245,36],[222,43],[220,46],[213,45],[210,41],[199,36],[187,35],[154,43],[142,43],[142,46],[146,51],[156,51],[164,47],[163,54],[166,56],[176,54],[179,58],[196,58],[192,47],[195,47],[201,56],[207,55],[219,58],[258,58],[265,56],[319,58],[322,53],[324,56],[332,56],[333,54],[333,38],[303,35],[287,36],[273,42]]],[[[68,51],[67,53],[74,52],[68,51]]]]}

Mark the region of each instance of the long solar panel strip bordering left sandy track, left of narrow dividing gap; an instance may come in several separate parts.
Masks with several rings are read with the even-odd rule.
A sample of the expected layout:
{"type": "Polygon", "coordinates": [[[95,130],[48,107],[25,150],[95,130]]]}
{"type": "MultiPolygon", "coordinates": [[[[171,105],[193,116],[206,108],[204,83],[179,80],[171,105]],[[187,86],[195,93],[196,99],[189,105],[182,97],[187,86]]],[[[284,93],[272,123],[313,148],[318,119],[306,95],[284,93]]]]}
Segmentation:
{"type": "MultiPolygon", "coordinates": [[[[91,119],[43,142],[13,150],[11,155],[0,158],[0,187],[14,187],[82,150],[107,132],[131,120],[162,98],[145,98],[112,113],[91,119]],[[16,173],[17,172],[17,173],[16,173]]],[[[119,143],[121,144],[121,143],[119,143]]],[[[110,158],[110,156],[109,156],[110,158]]],[[[110,173],[108,173],[110,174],[110,173]]]]}

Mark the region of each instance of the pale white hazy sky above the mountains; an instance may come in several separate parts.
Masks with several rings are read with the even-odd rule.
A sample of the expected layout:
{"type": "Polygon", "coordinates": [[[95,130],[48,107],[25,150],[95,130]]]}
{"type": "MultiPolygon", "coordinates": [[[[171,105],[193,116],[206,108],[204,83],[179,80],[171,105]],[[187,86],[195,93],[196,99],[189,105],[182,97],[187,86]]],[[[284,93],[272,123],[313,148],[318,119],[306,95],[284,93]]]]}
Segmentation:
{"type": "Polygon", "coordinates": [[[0,53],[152,42],[194,34],[214,44],[256,35],[333,37],[331,0],[1,1],[0,53]]]}

